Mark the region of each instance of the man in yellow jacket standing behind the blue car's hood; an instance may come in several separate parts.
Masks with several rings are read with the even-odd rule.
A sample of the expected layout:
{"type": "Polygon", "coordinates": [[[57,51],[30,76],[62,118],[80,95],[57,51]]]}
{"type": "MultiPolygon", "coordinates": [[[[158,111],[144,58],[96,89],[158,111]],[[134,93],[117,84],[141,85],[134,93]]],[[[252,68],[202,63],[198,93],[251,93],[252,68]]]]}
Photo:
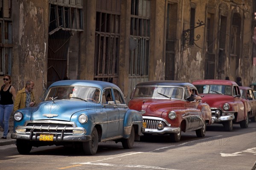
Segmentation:
{"type": "Polygon", "coordinates": [[[35,82],[32,80],[26,81],[26,86],[17,92],[13,110],[17,111],[18,109],[28,108],[35,105],[35,97],[33,89],[35,82]]]}

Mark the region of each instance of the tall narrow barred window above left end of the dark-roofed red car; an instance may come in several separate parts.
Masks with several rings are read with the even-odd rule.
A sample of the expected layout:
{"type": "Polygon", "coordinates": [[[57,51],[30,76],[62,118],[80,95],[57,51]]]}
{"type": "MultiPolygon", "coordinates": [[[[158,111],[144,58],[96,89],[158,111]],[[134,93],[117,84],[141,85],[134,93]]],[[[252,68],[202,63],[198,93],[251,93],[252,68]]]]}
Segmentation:
{"type": "Polygon", "coordinates": [[[150,0],[131,1],[130,76],[148,76],[150,0]]]}

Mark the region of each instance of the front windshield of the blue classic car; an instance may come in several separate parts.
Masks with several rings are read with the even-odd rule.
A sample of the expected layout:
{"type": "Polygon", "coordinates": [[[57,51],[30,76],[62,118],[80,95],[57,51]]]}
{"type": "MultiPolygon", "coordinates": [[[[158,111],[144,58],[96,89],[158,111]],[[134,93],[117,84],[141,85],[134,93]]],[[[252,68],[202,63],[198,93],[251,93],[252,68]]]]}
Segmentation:
{"type": "Polygon", "coordinates": [[[100,90],[84,86],[56,86],[47,91],[44,100],[74,99],[84,100],[87,102],[99,102],[100,90]]]}

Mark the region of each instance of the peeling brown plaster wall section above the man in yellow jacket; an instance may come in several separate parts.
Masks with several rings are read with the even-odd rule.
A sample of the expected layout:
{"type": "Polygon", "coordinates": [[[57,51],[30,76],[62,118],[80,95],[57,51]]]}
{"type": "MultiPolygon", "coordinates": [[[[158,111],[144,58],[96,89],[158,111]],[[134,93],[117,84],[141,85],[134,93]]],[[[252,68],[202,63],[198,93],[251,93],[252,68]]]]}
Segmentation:
{"type": "Polygon", "coordinates": [[[44,94],[47,83],[48,1],[19,0],[13,10],[13,83],[16,90],[29,79],[35,81],[35,98],[44,94]],[[18,16],[18,17],[15,17],[18,16]]]}

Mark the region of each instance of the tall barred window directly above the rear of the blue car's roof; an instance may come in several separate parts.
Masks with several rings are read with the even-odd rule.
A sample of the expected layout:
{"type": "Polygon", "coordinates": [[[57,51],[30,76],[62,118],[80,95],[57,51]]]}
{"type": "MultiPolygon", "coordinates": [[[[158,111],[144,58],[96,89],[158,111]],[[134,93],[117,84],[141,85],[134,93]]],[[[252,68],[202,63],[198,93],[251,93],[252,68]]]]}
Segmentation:
{"type": "Polygon", "coordinates": [[[121,3],[97,1],[94,80],[118,83],[121,3]]]}

